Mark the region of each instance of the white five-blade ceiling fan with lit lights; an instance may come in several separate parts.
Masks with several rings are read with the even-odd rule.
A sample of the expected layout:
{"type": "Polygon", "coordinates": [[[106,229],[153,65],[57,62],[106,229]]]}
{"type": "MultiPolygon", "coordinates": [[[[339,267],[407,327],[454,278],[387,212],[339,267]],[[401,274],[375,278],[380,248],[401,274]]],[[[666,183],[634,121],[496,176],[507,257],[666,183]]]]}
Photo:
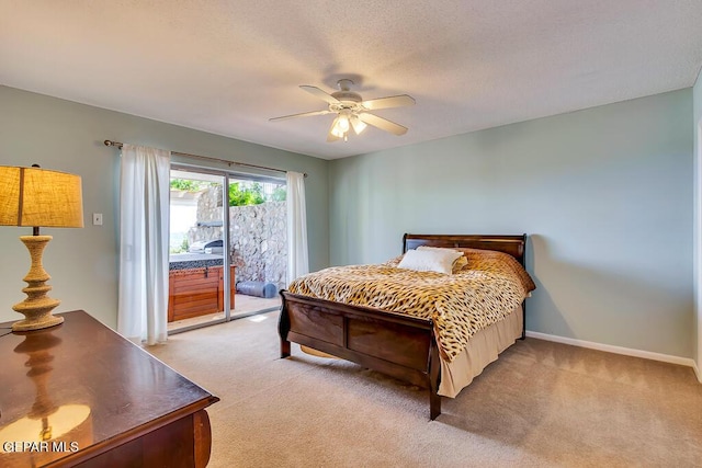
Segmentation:
{"type": "Polygon", "coordinates": [[[387,118],[378,117],[375,114],[371,114],[369,111],[412,105],[415,104],[415,99],[412,96],[407,94],[399,94],[363,101],[361,94],[351,91],[352,84],[353,81],[349,79],[339,80],[337,81],[339,91],[336,91],[331,94],[320,90],[317,87],[303,84],[299,88],[321,99],[327,104],[329,104],[329,107],[321,111],[303,112],[301,114],[273,117],[269,121],[276,122],[284,121],[286,118],[337,114],[333,122],[331,123],[331,127],[329,128],[327,141],[337,141],[339,139],[348,141],[350,128],[353,128],[355,134],[359,135],[366,127],[366,124],[377,127],[382,130],[389,132],[397,136],[405,135],[407,133],[407,127],[390,122],[387,118]]]}

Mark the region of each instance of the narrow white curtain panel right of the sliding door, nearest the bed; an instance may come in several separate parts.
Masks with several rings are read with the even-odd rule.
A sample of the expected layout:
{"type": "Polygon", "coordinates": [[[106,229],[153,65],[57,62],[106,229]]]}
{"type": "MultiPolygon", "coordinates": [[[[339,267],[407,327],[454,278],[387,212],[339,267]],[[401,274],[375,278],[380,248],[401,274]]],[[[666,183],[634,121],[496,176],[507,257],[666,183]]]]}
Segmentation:
{"type": "Polygon", "coordinates": [[[305,174],[287,172],[287,283],[309,273],[305,174]]]}

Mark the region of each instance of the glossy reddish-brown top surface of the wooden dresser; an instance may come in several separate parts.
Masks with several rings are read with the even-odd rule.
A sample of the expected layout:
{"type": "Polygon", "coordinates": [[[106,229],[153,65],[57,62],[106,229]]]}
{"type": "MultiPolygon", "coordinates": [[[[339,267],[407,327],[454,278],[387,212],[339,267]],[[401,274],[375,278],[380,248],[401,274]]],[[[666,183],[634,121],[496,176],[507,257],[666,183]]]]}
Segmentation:
{"type": "Polygon", "coordinates": [[[0,336],[1,466],[31,448],[35,465],[95,450],[218,401],[83,310],[59,316],[57,327],[0,336]]]}

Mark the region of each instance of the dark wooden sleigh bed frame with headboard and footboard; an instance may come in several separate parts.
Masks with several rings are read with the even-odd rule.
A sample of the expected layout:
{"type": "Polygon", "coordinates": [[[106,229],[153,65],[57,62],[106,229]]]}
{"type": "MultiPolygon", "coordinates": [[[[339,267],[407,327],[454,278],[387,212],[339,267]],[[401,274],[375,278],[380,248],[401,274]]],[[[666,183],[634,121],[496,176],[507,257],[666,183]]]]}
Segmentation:
{"type": "MultiPolygon", "coordinates": [[[[409,235],[403,252],[419,246],[497,250],[524,265],[526,235],[409,235]]],[[[429,388],[429,412],[441,414],[440,361],[431,319],[371,307],[351,306],[281,290],[281,358],[291,342],[332,354],[419,387],[429,388]]],[[[522,315],[525,306],[522,303],[522,315]]],[[[522,323],[524,321],[522,320],[522,323]]],[[[522,327],[522,339],[524,329],[522,327]]]]}

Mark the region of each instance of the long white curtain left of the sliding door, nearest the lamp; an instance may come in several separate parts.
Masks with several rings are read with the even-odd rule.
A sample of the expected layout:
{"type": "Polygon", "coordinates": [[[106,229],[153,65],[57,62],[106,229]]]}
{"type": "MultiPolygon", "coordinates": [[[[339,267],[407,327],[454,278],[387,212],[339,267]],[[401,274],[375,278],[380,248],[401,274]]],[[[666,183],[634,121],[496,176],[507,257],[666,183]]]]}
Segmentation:
{"type": "Polygon", "coordinates": [[[117,331],[146,344],[168,336],[170,152],[122,147],[117,331]]]}

